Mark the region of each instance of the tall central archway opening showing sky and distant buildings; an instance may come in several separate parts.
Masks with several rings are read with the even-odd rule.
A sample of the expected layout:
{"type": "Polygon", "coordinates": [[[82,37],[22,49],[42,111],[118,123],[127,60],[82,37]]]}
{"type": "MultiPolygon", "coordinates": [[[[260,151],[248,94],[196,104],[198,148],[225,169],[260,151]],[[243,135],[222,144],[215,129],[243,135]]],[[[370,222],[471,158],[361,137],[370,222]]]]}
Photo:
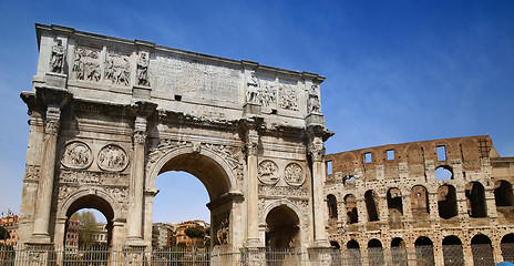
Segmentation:
{"type": "MultiPolygon", "coordinates": [[[[154,197],[152,247],[162,249],[169,246],[209,247],[210,241],[205,235],[198,238],[189,238],[185,231],[197,227],[206,231],[205,223],[210,224],[210,212],[206,207],[209,196],[204,184],[194,175],[182,171],[168,171],[162,173],[155,180],[155,187],[160,193],[154,197]],[[205,222],[205,223],[203,223],[205,222]],[[172,226],[171,223],[179,223],[172,226]],[[172,232],[168,234],[168,232],[172,232]]],[[[228,214],[216,214],[216,225],[213,223],[213,235],[222,228],[220,219],[228,214]],[[223,216],[223,217],[222,217],[223,216]],[[218,218],[219,217],[219,218],[218,218]]],[[[225,244],[227,239],[212,237],[214,245],[225,244]]]]}

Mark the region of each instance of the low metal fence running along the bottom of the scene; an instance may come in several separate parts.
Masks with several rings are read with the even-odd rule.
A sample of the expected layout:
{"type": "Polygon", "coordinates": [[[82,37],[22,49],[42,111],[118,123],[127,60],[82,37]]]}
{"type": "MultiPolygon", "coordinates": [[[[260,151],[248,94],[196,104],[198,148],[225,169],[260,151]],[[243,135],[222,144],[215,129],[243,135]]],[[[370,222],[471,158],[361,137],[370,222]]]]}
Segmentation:
{"type": "MultiPolygon", "coordinates": [[[[513,246],[502,246],[504,258],[512,258],[513,246]],[[506,253],[508,252],[508,254],[506,253]]],[[[490,245],[472,245],[474,265],[494,265],[490,245]]],[[[444,265],[464,266],[461,245],[443,246],[444,265]]],[[[467,259],[469,260],[469,259],[467,259]]],[[[432,246],[418,246],[415,250],[382,248],[360,250],[339,249],[270,249],[270,248],[218,248],[181,249],[181,248],[127,248],[91,247],[69,248],[51,247],[34,249],[29,247],[0,246],[0,266],[225,266],[225,265],[269,265],[269,266],[308,266],[308,265],[435,265],[432,246]]],[[[498,263],[498,262],[496,262],[498,263]]]]}

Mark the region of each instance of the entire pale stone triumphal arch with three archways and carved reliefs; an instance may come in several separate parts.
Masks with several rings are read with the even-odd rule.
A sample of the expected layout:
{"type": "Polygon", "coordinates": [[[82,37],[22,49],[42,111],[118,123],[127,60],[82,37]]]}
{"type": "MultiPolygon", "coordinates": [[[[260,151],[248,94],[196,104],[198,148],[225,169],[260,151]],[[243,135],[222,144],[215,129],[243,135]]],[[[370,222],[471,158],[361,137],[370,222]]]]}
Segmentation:
{"type": "Polygon", "coordinates": [[[208,192],[212,246],[329,246],[323,76],[35,28],[19,243],[62,245],[70,215],[95,208],[111,246],[150,247],[155,180],[185,171],[208,192]]]}

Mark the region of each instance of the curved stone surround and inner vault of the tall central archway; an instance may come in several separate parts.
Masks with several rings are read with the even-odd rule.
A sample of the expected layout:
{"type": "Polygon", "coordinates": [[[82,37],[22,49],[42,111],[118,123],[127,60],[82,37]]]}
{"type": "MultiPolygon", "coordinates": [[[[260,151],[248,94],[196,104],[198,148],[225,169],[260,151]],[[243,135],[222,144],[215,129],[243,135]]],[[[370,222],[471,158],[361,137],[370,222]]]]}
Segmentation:
{"type": "MultiPolygon", "coordinates": [[[[240,243],[234,242],[236,233],[233,228],[235,223],[240,223],[238,218],[243,216],[239,213],[240,207],[234,206],[243,201],[243,196],[235,190],[237,184],[233,167],[223,156],[207,149],[193,151],[191,146],[178,147],[162,155],[148,170],[146,191],[154,193],[145,195],[145,206],[151,208],[151,212],[145,212],[145,221],[153,221],[154,196],[158,192],[158,187],[155,187],[157,175],[169,171],[186,172],[202,182],[209,196],[207,207],[210,211],[210,246],[240,246],[240,243]],[[234,209],[237,209],[237,214],[234,214],[234,209]]],[[[152,223],[145,224],[147,243],[152,238],[151,229],[152,223]]]]}

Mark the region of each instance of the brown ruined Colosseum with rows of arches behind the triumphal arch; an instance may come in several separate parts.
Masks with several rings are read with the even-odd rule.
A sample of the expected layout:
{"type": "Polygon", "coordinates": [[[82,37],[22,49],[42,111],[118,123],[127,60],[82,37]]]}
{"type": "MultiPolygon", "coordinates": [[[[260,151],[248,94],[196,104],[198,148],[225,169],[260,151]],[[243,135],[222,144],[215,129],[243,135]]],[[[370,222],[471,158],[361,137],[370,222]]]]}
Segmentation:
{"type": "Polygon", "coordinates": [[[489,135],[328,154],[332,246],[357,265],[514,260],[514,157],[489,135]]]}

